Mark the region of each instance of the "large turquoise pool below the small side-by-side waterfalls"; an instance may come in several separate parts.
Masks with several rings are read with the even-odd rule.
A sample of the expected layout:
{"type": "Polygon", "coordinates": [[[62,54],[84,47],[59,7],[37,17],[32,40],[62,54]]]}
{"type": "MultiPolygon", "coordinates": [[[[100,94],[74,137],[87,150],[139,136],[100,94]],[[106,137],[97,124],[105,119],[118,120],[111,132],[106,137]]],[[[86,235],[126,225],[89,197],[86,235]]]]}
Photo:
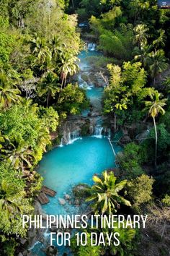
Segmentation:
{"type": "MultiPolygon", "coordinates": [[[[115,151],[120,150],[115,145],[115,151]]],[[[48,214],[76,213],[74,205],[61,205],[58,198],[71,193],[74,185],[92,184],[92,176],[106,168],[115,166],[115,157],[107,138],[83,137],[71,145],[55,148],[46,153],[40,162],[39,173],[44,177],[44,184],[57,192],[50,197],[50,202],[42,209],[48,214]]]]}

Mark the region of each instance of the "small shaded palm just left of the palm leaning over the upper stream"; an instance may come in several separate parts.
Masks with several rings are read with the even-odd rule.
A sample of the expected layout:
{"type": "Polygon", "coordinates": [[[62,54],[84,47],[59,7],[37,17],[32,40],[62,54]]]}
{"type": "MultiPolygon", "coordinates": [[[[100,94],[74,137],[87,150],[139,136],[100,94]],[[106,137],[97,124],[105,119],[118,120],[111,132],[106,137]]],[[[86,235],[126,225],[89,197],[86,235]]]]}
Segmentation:
{"type": "Polygon", "coordinates": [[[50,97],[55,97],[55,93],[59,92],[58,88],[58,76],[53,72],[47,72],[45,78],[42,78],[40,83],[40,93],[39,95],[47,95],[47,107],[50,100],[50,97]]]}

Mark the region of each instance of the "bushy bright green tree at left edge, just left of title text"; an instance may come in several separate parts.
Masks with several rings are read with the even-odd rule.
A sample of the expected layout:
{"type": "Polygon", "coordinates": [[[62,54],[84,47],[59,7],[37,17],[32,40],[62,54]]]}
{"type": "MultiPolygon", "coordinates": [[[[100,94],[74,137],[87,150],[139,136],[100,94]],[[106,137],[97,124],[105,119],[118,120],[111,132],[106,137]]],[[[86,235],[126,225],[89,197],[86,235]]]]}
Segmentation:
{"type": "MultiPolygon", "coordinates": [[[[24,190],[26,186],[22,173],[9,163],[0,165],[0,229],[4,237],[25,236],[21,214],[31,213],[31,200],[24,190]]],[[[8,255],[8,254],[7,254],[8,255]]],[[[10,254],[11,255],[11,254],[10,254]]],[[[14,255],[14,254],[12,254],[14,255]]]]}

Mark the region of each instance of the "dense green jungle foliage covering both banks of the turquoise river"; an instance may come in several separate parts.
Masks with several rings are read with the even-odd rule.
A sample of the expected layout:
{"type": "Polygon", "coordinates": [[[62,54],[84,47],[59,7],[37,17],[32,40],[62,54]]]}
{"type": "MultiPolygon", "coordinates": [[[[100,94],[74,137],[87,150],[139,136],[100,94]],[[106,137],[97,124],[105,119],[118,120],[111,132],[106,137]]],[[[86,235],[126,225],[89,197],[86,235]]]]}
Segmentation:
{"type": "MultiPolygon", "coordinates": [[[[84,90],[71,84],[83,48],[78,22],[89,22],[84,37],[92,38],[105,56],[103,113],[114,121],[115,131],[128,131],[117,155],[118,177],[107,172],[94,176],[102,195],[99,200],[92,187],[86,200],[93,200],[94,212],[101,214],[115,213],[116,205],[118,213],[149,214],[153,222],[158,218],[164,236],[154,226],[152,238],[159,239],[160,255],[168,255],[169,9],[159,9],[155,0],[0,4],[0,255],[17,255],[21,237],[27,237],[20,216],[33,213],[42,186],[35,166],[52,143],[51,133],[60,137],[63,119],[89,106],[84,90]],[[136,135],[146,123],[149,132],[140,140],[136,135]],[[108,189],[116,191],[116,200],[102,197],[108,189]]],[[[120,234],[120,247],[76,248],[73,241],[72,250],[84,256],[143,255],[139,231],[120,229],[120,234]]],[[[151,255],[150,248],[147,253],[151,255]]]]}

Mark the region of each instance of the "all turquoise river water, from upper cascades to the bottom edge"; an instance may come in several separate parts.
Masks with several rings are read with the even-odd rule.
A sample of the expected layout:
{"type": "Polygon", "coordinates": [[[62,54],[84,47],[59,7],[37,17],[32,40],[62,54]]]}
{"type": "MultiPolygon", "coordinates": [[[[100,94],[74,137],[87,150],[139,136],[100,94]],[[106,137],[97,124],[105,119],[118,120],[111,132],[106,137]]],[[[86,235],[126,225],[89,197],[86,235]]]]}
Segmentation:
{"type": "MultiPolygon", "coordinates": [[[[81,77],[82,74],[89,74],[91,72],[91,65],[88,57],[101,56],[97,51],[81,51],[80,59],[80,73],[79,85],[87,85],[86,95],[91,101],[94,108],[101,109],[101,100],[104,88],[96,88],[91,82],[86,83],[81,77]]],[[[84,111],[83,115],[87,116],[89,109],[84,111]]],[[[102,126],[102,119],[97,121],[98,125],[102,126]]],[[[120,146],[113,145],[115,152],[121,150],[120,146]]],[[[50,202],[47,205],[42,205],[42,210],[46,214],[81,214],[82,209],[66,202],[61,205],[59,198],[63,199],[65,194],[71,195],[72,188],[79,183],[93,184],[92,176],[94,174],[101,174],[107,168],[115,166],[115,156],[112,147],[109,144],[107,137],[83,137],[76,140],[72,144],[64,145],[62,148],[58,147],[46,153],[38,168],[38,172],[44,178],[43,184],[54,189],[57,194],[55,197],[49,197],[50,202]]],[[[72,196],[72,195],[71,195],[72,196]]],[[[85,205],[86,206],[86,205],[85,205]]],[[[49,244],[48,233],[45,234],[45,241],[49,244]]],[[[45,244],[37,242],[31,249],[32,256],[45,256],[45,244]]],[[[71,252],[68,248],[60,247],[59,254],[63,252],[71,252]]]]}

